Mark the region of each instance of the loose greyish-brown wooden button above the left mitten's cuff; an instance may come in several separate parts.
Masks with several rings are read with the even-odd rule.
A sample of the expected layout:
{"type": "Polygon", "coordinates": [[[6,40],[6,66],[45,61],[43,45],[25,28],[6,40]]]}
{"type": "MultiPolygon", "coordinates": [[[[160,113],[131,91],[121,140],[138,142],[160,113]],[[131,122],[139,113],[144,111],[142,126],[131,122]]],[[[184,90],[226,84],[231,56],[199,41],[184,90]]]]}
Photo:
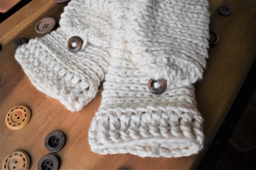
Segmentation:
{"type": "Polygon", "coordinates": [[[44,18],[36,24],[35,30],[38,34],[47,34],[55,28],[55,25],[55,19],[44,18]]]}

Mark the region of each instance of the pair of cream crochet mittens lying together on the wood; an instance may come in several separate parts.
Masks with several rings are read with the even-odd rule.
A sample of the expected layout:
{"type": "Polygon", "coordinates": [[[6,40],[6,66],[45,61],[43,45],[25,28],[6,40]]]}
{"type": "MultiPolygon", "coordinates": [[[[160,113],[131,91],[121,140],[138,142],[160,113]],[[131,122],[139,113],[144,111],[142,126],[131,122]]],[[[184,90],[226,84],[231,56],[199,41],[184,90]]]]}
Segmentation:
{"type": "Polygon", "coordinates": [[[71,111],[97,93],[93,152],[188,156],[203,147],[194,86],[208,57],[207,0],[71,1],[60,28],[15,57],[31,82],[71,111]],[[72,36],[82,39],[72,53],[72,36]]]}

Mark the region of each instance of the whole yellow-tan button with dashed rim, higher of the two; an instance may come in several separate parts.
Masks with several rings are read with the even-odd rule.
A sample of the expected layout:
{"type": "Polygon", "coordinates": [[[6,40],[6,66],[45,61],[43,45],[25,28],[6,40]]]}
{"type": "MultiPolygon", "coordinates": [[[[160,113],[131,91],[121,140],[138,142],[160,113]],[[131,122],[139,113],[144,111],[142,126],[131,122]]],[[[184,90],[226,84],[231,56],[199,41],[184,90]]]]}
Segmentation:
{"type": "Polygon", "coordinates": [[[31,112],[27,106],[19,105],[10,109],[6,115],[6,125],[14,130],[25,127],[31,117],[31,112]]]}

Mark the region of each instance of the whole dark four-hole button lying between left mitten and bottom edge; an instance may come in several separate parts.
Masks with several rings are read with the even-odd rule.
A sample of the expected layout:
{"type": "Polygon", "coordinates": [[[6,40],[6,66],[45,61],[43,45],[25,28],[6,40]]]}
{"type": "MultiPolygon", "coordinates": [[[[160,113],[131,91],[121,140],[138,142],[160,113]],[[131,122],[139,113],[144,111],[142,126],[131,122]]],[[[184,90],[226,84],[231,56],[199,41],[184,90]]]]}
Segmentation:
{"type": "Polygon", "coordinates": [[[52,131],[45,137],[45,148],[50,152],[58,152],[64,144],[64,135],[59,131],[52,131]]]}

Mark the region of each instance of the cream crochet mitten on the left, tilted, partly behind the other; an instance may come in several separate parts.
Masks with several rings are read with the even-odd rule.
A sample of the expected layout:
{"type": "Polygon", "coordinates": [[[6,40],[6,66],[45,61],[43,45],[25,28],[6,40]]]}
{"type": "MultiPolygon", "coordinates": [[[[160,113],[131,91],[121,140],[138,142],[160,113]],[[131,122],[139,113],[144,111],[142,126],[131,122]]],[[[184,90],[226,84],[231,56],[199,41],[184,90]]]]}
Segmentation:
{"type": "Polygon", "coordinates": [[[81,110],[95,97],[109,65],[109,16],[98,1],[72,0],[61,14],[60,28],[20,46],[15,58],[38,90],[71,111],[81,110]],[[73,36],[82,40],[76,53],[68,49],[73,36]]]}

